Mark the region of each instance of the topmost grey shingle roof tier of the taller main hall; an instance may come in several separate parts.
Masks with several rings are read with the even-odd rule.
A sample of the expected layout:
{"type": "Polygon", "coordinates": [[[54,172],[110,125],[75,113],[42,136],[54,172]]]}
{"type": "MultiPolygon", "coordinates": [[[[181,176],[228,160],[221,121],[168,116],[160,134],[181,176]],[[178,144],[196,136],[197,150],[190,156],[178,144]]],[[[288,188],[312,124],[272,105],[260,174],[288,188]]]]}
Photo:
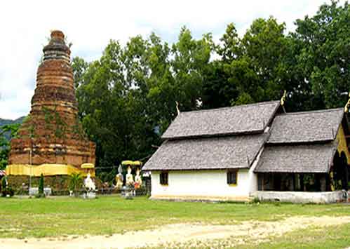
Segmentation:
{"type": "Polygon", "coordinates": [[[181,112],[162,135],[163,139],[262,133],[273,119],[279,101],[220,109],[181,112]]]}

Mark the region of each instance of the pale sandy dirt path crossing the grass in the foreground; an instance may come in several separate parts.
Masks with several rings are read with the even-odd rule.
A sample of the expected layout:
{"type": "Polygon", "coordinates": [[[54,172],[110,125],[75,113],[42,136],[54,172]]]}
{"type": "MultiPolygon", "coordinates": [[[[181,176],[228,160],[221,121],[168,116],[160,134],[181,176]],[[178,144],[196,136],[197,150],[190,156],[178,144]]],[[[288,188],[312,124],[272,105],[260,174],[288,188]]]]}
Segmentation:
{"type": "MultiPolygon", "coordinates": [[[[228,222],[229,223],[229,222],[228,222]]],[[[175,243],[213,240],[231,237],[233,242],[243,243],[243,238],[264,241],[268,236],[281,236],[309,226],[325,227],[350,223],[350,216],[343,217],[289,217],[277,222],[247,221],[236,225],[169,224],[159,229],[130,231],[113,236],[70,236],[68,238],[0,238],[1,248],[137,248],[175,243]]]]}

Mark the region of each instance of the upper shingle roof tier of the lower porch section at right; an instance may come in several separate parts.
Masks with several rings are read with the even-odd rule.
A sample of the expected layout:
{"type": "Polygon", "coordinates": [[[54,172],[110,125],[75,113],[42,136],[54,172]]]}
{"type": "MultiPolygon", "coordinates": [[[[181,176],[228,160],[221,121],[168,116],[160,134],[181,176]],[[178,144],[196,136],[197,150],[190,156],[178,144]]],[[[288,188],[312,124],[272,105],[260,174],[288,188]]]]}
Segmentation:
{"type": "Polygon", "coordinates": [[[299,143],[335,140],[343,109],[295,112],[275,117],[268,143],[299,143]]]}

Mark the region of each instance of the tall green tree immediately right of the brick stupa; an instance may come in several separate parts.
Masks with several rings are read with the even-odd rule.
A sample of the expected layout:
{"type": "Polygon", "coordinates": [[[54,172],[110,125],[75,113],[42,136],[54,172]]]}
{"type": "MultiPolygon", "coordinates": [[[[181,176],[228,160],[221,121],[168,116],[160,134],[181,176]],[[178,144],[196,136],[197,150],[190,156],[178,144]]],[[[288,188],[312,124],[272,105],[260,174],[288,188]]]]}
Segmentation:
{"type": "MultiPolygon", "coordinates": [[[[79,60],[73,60],[73,64],[76,72],[85,65],[79,60]]],[[[123,100],[128,88],[122,48],[118,42],[110,41],[100,60],[88,65],[76,90],[83,126],[97,145],[97,166],[114,165],[116,154],[123,154],[123,148],[128,147],[124,133],[128,115],[123,100]]]]}

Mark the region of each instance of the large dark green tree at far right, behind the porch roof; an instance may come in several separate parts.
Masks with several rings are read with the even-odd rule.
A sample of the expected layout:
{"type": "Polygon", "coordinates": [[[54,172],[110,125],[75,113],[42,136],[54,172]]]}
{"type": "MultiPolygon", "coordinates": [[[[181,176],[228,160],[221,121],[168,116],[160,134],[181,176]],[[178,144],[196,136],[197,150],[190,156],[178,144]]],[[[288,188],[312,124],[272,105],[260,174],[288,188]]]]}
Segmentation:
{"type": "Polygon", "coordinates": [[[343,107],[350,79],[350,7],[323,4],[316,15],[297,20],[291,34],[296,68],[311,109],[343,107]]]}

